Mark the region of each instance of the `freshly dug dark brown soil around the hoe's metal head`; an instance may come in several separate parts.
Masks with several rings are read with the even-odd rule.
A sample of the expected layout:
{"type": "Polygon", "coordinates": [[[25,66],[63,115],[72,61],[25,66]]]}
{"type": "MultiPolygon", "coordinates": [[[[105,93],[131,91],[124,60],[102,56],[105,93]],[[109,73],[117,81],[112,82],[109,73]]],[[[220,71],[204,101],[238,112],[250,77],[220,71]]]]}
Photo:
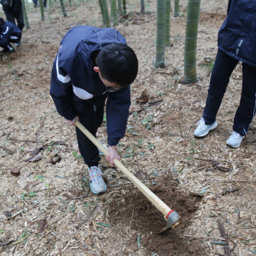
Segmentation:
{"type": "MultiPolygon", "coordinates": [[[[112,200],[109,221],[119,223],[119,227],[122,223],[123,228],[130,226],[139,232],[142,245],[148,252],[158,253],[160,256],[203,255],[203,248],[200,248],[198,240],[189,241],[182,237],[184,228],[191,224],[189,221],[197,210],[196,202],[180,193],[176,186],[164,187],[166,185],[151,186],[149,189],[180,214],[182,219],[176,230],[158,234],[167,225],[167,221],[163,214],[138,189],[133,189],[133,187],[130,187],[130,191],[126,194],[121,194],[121,197],[117,196],[112,200]]],[[[133,250],[136,248],[135,244],[137,244],[137,237],[130,241],[130,247],[133,250]]]]}

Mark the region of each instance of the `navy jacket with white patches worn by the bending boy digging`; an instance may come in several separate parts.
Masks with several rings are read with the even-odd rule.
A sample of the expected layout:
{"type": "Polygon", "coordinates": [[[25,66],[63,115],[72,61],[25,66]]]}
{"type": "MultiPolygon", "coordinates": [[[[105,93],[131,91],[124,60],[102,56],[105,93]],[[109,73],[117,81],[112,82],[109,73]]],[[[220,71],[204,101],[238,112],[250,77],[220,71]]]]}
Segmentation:
{"type": "MultiPolygon", "coordinates": [[[[92,106],[105,101],[108,91],[93,69],[92,55],[117,42],[126,44],[124,37],[114,28],[76,26],[67,32],[53,64],[50,90],[62,117],[73,120],[77,115],[78,101],[87,101],[92,106]]],[[[106,112],[110,146],[117,145],[126,132],[129,108],[130,87],[108,94],[106,112]]]]}

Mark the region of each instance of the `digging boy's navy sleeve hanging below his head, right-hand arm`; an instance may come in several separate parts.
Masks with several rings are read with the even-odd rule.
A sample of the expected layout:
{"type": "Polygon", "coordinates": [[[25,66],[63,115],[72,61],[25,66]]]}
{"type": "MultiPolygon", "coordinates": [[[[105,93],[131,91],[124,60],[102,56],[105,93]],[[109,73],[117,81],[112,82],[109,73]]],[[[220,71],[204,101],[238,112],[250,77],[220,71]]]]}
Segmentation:
{"type": "Polygon", "coordinates": [[[110,92],[107,101],[108,145],[115,146],[126,133],[130,108],[130,86],[110,92]]]}

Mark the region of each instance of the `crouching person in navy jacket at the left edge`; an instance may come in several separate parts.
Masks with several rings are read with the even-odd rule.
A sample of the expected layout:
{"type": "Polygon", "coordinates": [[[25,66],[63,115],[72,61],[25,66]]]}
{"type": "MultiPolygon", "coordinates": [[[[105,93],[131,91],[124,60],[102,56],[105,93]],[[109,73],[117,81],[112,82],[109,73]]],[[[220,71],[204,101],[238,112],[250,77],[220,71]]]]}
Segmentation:
{"type": "Polygon", "coordinates": [[[10,42],[20,42],[21,37],[22,31],[20,31],[16,25],[5,22],[5,20],[0,17],[0,46],[3,48],[0,55],[15,52],[10,42]]]}

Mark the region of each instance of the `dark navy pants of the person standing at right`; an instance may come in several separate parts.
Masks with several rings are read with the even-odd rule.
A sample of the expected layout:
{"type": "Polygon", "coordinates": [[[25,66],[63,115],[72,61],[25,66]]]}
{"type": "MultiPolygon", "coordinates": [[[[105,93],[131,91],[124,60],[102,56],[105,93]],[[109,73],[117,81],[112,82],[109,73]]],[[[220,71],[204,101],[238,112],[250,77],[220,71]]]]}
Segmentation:
{"type": "MultiPolygon", "coordinates": [[[[218,50],[203,118],[205,124],[209,125],[216,121],[216,114],[228,86],[232,71],[237,66],[236,60],[220,49],[218,50]]],[[[248,132],[250,122],[253,121],[256,110],[256,67],[243,62],[243,86],[240,105],[234,116],[233,130],[244,136],[248,132]]]]}

